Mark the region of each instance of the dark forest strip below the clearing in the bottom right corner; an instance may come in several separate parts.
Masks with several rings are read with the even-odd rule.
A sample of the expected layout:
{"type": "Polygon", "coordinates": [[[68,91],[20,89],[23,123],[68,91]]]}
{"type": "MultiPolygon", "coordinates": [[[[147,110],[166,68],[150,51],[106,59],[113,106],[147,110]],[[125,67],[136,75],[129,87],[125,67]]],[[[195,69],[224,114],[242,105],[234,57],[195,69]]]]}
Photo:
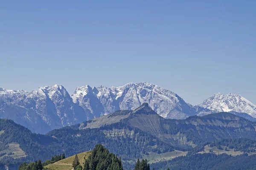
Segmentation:
{"type": "Polygon", "coordinates": [[[212,153],[180,156],[169,161],[151,164],[156,170],[255,170],[256,155],[247,153],[239,156],[212,153]]]}

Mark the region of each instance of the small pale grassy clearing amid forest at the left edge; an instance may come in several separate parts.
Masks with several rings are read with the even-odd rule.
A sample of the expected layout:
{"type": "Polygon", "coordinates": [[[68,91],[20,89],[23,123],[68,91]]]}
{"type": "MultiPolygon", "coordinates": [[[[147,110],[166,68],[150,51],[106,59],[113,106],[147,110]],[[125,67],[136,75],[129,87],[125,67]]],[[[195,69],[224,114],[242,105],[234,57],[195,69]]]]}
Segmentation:
{"type": "Polygon", "coordinates": [[[0,159],[2,159],[4,156],[9,156],[14,159],[27,156],[26,153],[20,148],[20,144],[18,144],[18,143],[8,144],[8,148],[5,150],[2,150],[0,153],[6,153],[5,155],[1,156],[0,159]],[[13,154],[8,155],[8,153],[13,153],[13,154]]]}

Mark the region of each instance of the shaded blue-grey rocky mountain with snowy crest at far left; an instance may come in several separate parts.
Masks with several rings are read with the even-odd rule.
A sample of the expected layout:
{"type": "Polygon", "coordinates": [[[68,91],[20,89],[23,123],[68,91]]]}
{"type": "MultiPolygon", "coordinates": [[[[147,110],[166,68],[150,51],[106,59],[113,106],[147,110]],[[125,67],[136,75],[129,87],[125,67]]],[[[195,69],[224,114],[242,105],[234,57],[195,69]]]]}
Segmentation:
{"type": "Polygon", "coordinates": [[[37,133],[87,120],[86,113],[62,85],[31,92],[1,90],[0,118],[12,119],[37,133]]]}

